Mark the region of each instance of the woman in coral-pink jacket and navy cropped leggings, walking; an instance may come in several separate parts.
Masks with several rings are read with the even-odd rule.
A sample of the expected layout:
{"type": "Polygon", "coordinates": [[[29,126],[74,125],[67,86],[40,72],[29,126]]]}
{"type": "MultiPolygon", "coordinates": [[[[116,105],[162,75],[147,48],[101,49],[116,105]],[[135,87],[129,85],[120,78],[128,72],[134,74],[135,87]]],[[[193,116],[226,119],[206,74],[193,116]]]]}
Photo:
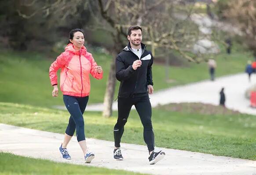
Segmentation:
{"type": "Polygon", "coordinates": [[[89,74],[91,73],[96,79],[102,79],[103,71],[84,47],[84,33],[81,29],[70,31],[65,52],[62,52],[50,66],[49,76],[53,86],[53,97],[58,96],[57,71],[59,68],[61,68],[60,89],[70,113],[69,124],[59,151],[62,158],[71,159],[66,147],[76,130],[77,141],[84,153],[85,162],[90,163],[95,154],[89,152],[86,146],[83,113],[90,94],[89,74]]]}

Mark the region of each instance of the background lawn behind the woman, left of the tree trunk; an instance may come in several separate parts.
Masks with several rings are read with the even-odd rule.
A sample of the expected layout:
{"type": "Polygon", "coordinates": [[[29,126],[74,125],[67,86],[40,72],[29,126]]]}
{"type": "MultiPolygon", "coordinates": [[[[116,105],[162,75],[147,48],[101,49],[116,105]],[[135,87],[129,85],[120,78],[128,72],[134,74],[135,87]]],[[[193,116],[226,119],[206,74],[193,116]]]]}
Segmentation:
{"type": "MultiPolygon", "coordinates": [[[[110,64],[109,56],[95,54],[95,57],[99,65],[103,67],[105,76],[102,80],[95,80],[91,77],[91,103],[103,101],[110,64]]],[[[48,74],[53,59],[42,58],[43,56],[38,53],[1,52],[0,102],[46,107],[63,105],[61,92],[58,98],[51,97],[52,87],[48,74]]]]}

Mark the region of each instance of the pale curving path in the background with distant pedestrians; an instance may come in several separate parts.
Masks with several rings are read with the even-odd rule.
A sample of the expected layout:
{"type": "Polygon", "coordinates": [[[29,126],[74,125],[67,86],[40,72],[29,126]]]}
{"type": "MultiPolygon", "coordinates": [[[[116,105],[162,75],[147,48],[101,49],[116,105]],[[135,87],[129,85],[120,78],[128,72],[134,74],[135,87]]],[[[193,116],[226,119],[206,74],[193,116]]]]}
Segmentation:
{"type": "MultiPolygon", "coordinates": [[[[150,95],[152,107],[168,103],[201,102],[212,105],[219,104],[219,91],[225,88],[226,106],[229,109],[242,113],[256,115],[256,109],[250,107],[250,101],[245,98],[245,90],[252,84],[256,84],[256,75],[252,74],[252,81],[249,83],[246,73],[238,73],[230,76],[218,77],[216,81],[200,81],[197,83],[168,88],[154,92],[150,95]]],[[[58,106],[58,109],[65,109],[65,106],[58,106]]],[[[133,108],[134,109],[134,108],[133,108]]],[[[89,104],[87,111],[102,111],[103,104],[89,104]]],[[[117,102],[113,103],[113,110],[117,110],[117,102]]]]}

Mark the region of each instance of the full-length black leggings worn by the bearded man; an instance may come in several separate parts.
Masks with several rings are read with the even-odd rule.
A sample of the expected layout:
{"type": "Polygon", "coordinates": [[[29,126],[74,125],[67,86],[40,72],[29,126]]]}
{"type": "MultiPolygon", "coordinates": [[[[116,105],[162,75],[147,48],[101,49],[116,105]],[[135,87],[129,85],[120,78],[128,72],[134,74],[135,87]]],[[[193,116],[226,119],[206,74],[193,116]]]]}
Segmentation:
{"type": "Polygon", "coordinates": [[[148,150],[154,151],[154,131],[151,122],[152,110],[148,96],[134,98],[118,98],[118,118],[114,126],[115,147],[120,147],[124,125],[127,122],[132,105],[135,105],[141,123],[143,124],[143,137],[148,150]]]}

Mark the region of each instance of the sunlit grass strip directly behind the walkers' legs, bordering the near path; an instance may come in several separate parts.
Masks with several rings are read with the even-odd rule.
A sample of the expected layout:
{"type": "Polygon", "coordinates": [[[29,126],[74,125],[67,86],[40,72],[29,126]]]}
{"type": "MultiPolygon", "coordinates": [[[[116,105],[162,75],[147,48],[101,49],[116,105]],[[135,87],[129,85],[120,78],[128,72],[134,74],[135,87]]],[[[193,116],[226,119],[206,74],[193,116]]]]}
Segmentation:
{"type": "MultiPolygon", "coordinates": [[[[220,107],[210,108],[205,109],[212,111],[209,114],[186,105],[175,112],[166,106],[153,109],[156,146],[256,160],[256,117],[219,113],[220,107]]],[[[64,133],[69,118],[66,111],[3,102],[0,102],[0,116],[0,123],[55,133],[64,133]]],[[[116,118],[117,112],[109,119],[103,118],[100,112],[85,112],[86,137],[113,141],[116,118]]],[[[129,116],[122,142],[144,145],[143,128],[136,111],[129,116]]]]}

